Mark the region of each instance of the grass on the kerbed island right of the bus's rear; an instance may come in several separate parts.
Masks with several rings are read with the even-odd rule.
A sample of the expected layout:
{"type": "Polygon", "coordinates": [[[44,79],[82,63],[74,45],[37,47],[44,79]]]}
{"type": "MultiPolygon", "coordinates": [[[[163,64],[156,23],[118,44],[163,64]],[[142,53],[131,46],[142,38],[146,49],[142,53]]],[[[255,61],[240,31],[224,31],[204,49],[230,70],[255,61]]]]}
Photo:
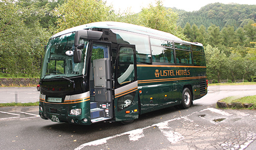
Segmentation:
{"type": "Polygon", "coordinates": [[[246,97],[230,96],[219,100],[219,102],[225,102],[229,106],[232,106],[232,108],[256,109],[256,95],[246,97]],[[242,107],[238,105],[239,103],[240,105],[242,104],[242,107]]]}

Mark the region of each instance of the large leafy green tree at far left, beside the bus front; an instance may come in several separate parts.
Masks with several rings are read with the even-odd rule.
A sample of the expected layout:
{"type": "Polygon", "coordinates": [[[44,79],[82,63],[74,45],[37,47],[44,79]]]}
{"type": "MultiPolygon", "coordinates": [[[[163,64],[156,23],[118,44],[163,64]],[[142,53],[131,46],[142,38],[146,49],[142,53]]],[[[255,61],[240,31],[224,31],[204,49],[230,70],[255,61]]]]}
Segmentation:
{"type": "Polygon", "coordinates": [[[31,14],[40,12],[31,6],[21,7],[12,0],[0,1],[0,63],[12,76],[40,74],[42,43],[50,36],[38,21],[26,23],[31,14]]]}

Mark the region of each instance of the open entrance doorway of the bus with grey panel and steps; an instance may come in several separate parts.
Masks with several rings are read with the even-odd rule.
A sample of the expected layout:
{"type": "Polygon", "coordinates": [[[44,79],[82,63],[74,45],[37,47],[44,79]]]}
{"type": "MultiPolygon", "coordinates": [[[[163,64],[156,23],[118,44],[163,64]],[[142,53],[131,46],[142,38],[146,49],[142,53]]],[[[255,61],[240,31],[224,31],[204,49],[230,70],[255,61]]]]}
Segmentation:
{"type": "Polygon", "coordinates": [[[90,101],[91,121],[113,117],[112,67],[109,44],[91,43],[90,101]]]}

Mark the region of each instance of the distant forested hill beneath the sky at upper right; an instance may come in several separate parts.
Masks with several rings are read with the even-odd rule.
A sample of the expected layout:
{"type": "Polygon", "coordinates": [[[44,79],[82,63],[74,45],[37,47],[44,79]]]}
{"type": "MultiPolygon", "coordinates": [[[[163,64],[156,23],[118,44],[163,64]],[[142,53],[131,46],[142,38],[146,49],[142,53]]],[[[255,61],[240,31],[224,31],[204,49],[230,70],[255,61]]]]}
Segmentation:
{"type": "Polygon", "coordinates": [[[220,29],[227,25],[234,26],[237,29],[246,24],[247,19],[256,21],[256,5],[217,2],[207,4],[200,10],[193,12],[177,10],[176,8],[171,9],[179,14],[177,23],[182,28],[188,22],[190,25],[196,24],[198,27],[204,25],[206,29],[211,24],[219,26],[220,29]]]}

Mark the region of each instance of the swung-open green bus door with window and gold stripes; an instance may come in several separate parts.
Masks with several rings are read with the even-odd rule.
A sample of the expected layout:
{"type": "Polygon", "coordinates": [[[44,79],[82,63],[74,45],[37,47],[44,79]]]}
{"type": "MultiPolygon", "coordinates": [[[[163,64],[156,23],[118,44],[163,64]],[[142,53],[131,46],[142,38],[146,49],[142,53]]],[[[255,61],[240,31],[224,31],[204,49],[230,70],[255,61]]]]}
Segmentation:
{"type": "Polygon", "coordinates": [[[115,120],[139,117],[138,81],[135,45],[118,44],[115,61],[115,120]]]}

